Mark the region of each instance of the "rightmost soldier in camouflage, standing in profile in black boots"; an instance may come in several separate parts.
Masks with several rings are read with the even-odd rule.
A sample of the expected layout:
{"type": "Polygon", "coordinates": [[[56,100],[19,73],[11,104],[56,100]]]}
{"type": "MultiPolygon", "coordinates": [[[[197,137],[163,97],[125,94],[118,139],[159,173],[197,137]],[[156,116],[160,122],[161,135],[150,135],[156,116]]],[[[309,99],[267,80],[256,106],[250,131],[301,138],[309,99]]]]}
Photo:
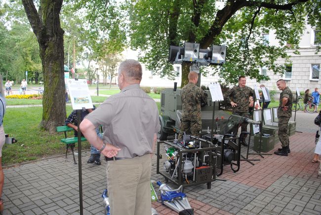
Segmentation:
{"type": "Polygon", "coordinates": [[[289,147],[289,128],[288,122],[292,116],[292,92],[286,86],[283,79],[277,81],[278,88],[282,91],[280,94],[280,104],[278,108],[278,118],[279,118],[279,139],[282,148],[274,153],[277,155],[287,156],[290,153],[289,147]]]}

